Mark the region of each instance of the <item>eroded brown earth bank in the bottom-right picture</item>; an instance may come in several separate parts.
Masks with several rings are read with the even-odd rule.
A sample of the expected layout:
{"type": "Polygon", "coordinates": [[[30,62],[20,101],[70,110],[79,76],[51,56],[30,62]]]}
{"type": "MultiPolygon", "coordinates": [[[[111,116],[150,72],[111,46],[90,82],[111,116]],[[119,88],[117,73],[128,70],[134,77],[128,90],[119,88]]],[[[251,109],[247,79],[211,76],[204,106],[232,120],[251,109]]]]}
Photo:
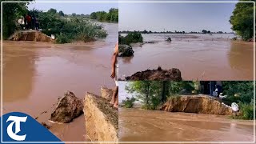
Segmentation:
{"type": "Polygon", "coordinates": [[[232,114],[230,107],[222,104],[220,100],[206,95],[173,97],[160,106],[159,110],[199,114],[232,114]]]}

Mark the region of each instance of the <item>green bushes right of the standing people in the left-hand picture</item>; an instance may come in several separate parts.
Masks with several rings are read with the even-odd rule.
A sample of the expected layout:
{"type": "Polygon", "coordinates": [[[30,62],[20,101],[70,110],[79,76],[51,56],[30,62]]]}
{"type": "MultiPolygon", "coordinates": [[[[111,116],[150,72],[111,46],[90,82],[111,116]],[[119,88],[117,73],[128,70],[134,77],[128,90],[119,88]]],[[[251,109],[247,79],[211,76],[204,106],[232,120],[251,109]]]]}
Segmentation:
{"type": "Polygon", "coordinates": [[[106,38],[106,30],[96,22],[82,17],[63,17],[57,10],[42,12],[33,10],[39,21],[39,28],[42,33],[56,36],[57,43],[68,43],[72,41],[92,42],[98,38],[106,38]]]}

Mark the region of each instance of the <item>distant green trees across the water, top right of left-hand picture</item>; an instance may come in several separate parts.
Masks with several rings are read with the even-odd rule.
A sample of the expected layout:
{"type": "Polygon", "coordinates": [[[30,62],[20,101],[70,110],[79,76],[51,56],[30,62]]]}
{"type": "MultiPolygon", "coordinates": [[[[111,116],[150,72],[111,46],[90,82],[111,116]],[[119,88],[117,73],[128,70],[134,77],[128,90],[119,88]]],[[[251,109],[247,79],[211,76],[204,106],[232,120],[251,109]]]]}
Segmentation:
{"type": "Polygon", "coordinates": [[[111,8],[108,13],[106,11],[93,12],[90,18],[99,22],[118,22],[118,9],[111,8]]]}

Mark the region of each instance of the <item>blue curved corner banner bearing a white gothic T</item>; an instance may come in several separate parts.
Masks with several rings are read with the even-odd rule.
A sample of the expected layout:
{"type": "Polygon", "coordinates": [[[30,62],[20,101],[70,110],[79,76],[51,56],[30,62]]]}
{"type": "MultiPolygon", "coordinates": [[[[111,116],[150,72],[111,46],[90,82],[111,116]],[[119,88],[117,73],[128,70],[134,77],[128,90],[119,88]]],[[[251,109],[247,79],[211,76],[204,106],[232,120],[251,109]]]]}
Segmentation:
{"type": "Polygon", "coordinates": [[[12,112],[1,118],[2,142],[62,142],[28,114],[12,112]]]}

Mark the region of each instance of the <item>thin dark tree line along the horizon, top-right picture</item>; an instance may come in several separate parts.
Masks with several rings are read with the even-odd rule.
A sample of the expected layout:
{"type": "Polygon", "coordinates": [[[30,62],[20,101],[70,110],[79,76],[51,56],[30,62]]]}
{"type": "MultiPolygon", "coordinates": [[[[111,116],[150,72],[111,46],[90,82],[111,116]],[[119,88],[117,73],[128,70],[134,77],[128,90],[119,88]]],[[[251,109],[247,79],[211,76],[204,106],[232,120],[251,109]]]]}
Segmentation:
{"type": "Polygon", "coordinates": [[[233,32],[231,33],[222,32],[222,31],[212,32],[210,30],[202,30],[201,32],[197,32],[197,31],[185,32],[185,31],[178,31],[178,30],[175,30],[175,31],[123,30],[123,31],[119,31],[119,34],[129,34],[131,32],[136,32],[140,34],[234,34],[233,32]]]}

